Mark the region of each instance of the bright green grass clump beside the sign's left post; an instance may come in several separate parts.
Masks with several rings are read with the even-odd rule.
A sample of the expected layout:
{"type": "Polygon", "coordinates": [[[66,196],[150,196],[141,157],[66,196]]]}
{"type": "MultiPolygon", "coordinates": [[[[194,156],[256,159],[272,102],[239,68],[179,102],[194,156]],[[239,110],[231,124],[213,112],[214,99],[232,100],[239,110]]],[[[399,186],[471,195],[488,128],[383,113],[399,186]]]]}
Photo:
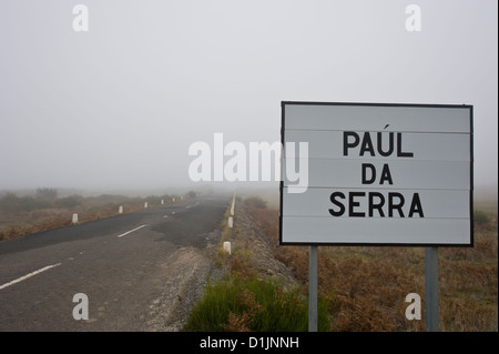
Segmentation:
{"type": "MultiPolygon", "coordinates": [[[[245,277],[232,273],[208,285],[192,310],[184,331],[191,332],[304,332],[308,326],[307,300],[298,289],[285,290],[276,281],[245,277]]],[[[327,303],[319,303],[319,331],[328,331],[324,315],[327,303]]]]}

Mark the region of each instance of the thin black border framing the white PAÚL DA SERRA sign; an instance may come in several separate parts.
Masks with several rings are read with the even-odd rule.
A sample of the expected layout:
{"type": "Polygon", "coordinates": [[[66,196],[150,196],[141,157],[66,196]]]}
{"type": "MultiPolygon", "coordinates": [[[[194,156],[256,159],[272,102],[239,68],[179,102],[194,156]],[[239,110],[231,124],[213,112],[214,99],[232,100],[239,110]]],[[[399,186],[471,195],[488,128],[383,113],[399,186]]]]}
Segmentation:
{"type": "Polygon", "coordinates": [[[472,247],[475,244],[473,231],[473,105],[472,104],[432,104],[432,103],[369,103],[369,102],[307,102],[307,101],[281,101],[281,144],[283,153],[281,155],[281,174],[283,173],[283,155],[286,132],[286,105],[364,105],[364,107],[414,107],[414,108],[456,108],[469,110],[469,152],[470,152],[470,188],[469,188],[469,221],[470,242],[469,243],[332,243],[332,242],[283,242],[283,193],[284,179],[279,183],[279,245],[335,245],[335,246],[417,246],[417,247],[472,247]]]}

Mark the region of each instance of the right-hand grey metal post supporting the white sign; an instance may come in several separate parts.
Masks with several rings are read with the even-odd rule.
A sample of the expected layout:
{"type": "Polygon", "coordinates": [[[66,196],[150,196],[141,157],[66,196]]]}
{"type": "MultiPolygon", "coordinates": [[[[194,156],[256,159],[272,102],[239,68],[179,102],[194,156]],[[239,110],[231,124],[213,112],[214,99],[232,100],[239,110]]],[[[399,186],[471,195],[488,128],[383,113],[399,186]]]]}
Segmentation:
{"type": "Polygon", "coordinates": [[[426,331],[438,332],[438,247],[425,249],[426,331]]]}

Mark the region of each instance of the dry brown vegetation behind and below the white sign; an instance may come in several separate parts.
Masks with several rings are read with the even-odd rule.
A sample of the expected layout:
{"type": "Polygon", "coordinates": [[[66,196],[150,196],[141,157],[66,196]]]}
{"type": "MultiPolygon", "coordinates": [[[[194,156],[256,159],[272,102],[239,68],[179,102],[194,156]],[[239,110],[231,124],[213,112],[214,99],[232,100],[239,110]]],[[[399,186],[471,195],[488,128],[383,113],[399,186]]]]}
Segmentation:
{"type": "MultiPolygon", "coordinates": [[[[249,212],[275,244],[274,256],[293,269],[306,293],[308,249],[278,246],[277,208],[249,212]]],[[[498,331],[497,204],[480,213],[486,218],[476,220],[475,247],[439,249],[441,331],[498,331]]],[[[332,331],[425,331],[424,303],[422,321],[405,317],[408,293],[424,302],[422,247],[320,246],[318,272],[332,331]]]]}

